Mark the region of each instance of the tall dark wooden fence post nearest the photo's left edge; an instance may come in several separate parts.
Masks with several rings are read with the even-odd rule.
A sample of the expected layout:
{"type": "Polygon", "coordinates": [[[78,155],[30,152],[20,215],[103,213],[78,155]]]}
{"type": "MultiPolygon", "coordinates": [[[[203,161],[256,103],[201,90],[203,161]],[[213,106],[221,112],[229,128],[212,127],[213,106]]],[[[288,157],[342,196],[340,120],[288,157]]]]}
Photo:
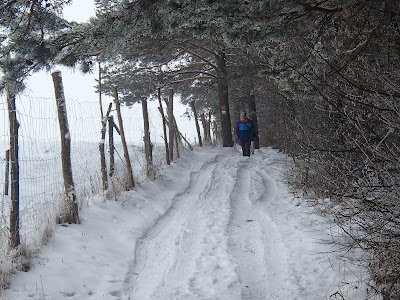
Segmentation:
{"type": "Polygon", "coordinates": [[[11,161],[11,213],[10,213],[10,247],[20,244],[19,235],[19,160],[18,128],[15,94],[7,91],[8,118],[10,122],[10,161],[11,161]]]}

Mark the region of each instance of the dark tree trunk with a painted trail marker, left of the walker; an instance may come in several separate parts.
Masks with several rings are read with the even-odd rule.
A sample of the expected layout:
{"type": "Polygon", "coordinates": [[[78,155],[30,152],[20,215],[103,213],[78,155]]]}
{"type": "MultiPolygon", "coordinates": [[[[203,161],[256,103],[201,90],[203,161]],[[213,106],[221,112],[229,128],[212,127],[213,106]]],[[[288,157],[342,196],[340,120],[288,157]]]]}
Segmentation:
{"type": "Polygon", "coordinates": [[[223,147],[232,147],[231,116],[229,113],[228,99],[228,75],[226,70],[225,49],[218,51],[217,74],[218,74],[218,99],[221,116],[221,138],[223,147]]]}

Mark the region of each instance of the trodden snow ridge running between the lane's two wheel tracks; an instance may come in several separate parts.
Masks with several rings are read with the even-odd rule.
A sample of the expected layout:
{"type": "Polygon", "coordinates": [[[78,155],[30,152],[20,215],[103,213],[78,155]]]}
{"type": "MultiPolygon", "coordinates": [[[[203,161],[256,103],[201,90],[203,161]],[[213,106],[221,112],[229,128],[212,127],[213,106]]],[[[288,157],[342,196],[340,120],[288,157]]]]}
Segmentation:
{"type": "Polygon", "coordinates": [[[212,186],[196,207],[202,241],[196,267],[190,275],[194,299],[240,299],[239,278],[229,254],[227,236],[229,194],[233,189],[232,173],[236,173],[236,167],[230,166],[231,160],[232,157],[227,157],[215,168],[212,186]]]}

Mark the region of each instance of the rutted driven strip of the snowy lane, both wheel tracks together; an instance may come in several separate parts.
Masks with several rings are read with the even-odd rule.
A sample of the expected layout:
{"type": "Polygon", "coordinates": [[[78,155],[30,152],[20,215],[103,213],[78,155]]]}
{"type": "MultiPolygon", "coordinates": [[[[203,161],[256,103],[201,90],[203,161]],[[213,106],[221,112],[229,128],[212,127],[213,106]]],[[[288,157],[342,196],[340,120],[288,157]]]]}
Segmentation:
{"type": "Polygon", "coordinates": [[[266,175],[251,171],[259,159],[251,159],[220,155],[191,173],[174,205],[138,240],[127,296],[265,299],[267,291],[282,296],[285,267],[275,264],[285,261],[285,252],[260,206],[273,200],[273,192],[265,190],[273,183],[264,186],[266,175]]]}

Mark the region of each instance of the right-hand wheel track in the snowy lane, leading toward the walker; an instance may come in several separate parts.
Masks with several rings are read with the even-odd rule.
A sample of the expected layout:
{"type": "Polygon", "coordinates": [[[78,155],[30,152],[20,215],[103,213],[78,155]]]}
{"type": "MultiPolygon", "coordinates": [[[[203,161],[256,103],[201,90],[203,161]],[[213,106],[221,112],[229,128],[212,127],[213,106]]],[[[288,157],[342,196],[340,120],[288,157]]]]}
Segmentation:
{"type": "Polygon", "coordinates": [[[241,161],[231,195],[229,242],[241,280],[242,299],[285,299],[285,249],[263,204],[274,201],[276,187],[266,174],[252,169],[265,164],[265,155],[241,161]]]}

